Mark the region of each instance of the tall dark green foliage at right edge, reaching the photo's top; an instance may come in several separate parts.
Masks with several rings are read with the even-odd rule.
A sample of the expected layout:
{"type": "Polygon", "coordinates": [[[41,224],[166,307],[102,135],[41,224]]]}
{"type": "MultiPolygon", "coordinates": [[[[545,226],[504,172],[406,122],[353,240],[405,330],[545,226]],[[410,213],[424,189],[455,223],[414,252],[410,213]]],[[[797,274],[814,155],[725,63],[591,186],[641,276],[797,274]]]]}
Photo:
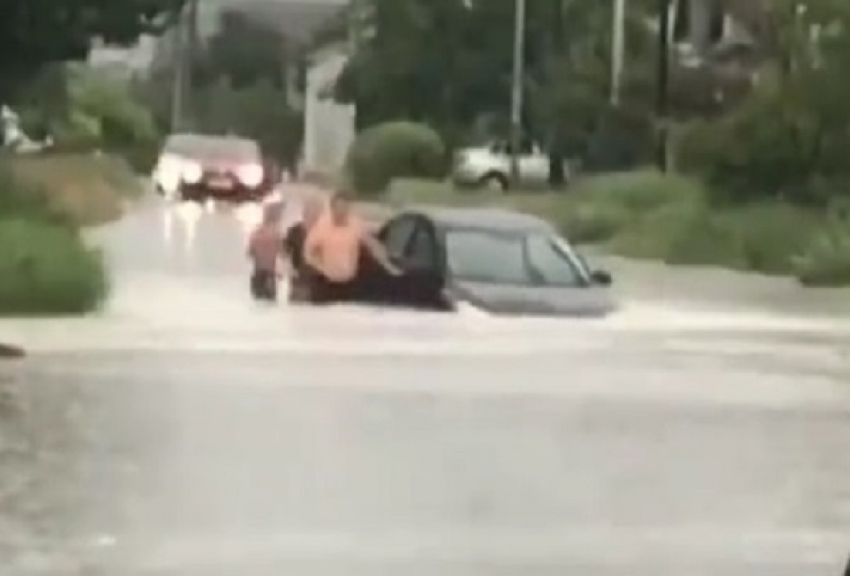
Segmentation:
{"type": "Polygon", "coordinates": [[[781,58],[740,108],[695,127],[682,142],[683,167],[706,178],[717,200],[824,205],[850,190],[850,6],[805,5],[797,12],[777,4],[781,58]],[[812,40],[803,33],[809,30],[821,33],[812,40]]]}

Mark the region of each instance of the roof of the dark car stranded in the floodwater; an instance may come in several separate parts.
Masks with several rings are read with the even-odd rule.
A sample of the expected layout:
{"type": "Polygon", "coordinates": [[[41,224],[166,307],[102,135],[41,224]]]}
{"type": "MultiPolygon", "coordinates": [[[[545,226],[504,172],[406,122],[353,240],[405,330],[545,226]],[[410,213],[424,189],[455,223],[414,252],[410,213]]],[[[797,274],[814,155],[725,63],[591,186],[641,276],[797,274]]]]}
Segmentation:
{"type": "Polygon", "coordinates": [[[443,229],[472,229],[501,232],[552,232],[552,225],[531,214],[504,208],[443,208],[414,206],[402,214],[424,216],[443,229]]]}

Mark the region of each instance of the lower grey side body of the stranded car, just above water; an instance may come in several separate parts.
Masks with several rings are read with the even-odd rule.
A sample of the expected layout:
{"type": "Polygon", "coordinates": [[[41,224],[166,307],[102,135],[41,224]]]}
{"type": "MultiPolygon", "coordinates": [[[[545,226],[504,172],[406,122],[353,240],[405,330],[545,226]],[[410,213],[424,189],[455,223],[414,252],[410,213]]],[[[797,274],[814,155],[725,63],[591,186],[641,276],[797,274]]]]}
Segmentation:
{"type": "Polygon", "coordinates": [[[455,281],[449,292],[492,314],[602,317],[617,309],[611,289],[603,286],[561,288],[455,281]]]}

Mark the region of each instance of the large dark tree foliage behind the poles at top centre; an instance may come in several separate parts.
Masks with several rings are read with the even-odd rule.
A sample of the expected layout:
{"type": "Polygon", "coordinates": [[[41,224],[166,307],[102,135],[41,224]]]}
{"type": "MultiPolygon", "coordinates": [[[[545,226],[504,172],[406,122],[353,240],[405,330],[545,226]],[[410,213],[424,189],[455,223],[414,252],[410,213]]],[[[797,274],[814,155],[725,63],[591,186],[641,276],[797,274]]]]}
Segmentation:
{"type": "MultiPolygon", "coordinates": [[[[337,83],[337,98],[358,106],[361,127],[393,118],[434,126],[454,147],[480,125],[505,136],[513,65],[513,0],[371,0],[374,34],[358,49],[337,83]],[[435,90],[436,88],[436,90],[435,90]]],[[[525,130],[553,154],[622,156],[635,165],[649,156],[655,99],[657,39],[647,20],[652,0],[629,2],[627,66],[620,103],[611,110],[612,2],[529,2],[524,61],[525,130]],[[622,126],[620,124],[622,123],[622,126]],[[627,148],[625,155],[620,152],[627,148]]],[[[345,28],[336,23],[339,34],[345,28]]],[[[321,36],[328,40],[330,29],[321,36]]],[[[338,39],[338,38],[337,38],[338,39]]],[[[675,111],[706,113],[721,83],[714,70],[685,73],[674,66],[675,111]],[[694,80],[699,82],[695,82],[694,80]],[[688,88],[699,85],[700,90],[688,88]]],[[[617,159],[615,159],[617,160],[617,159]]],[[[600,168],[611,162],[598,161],[600,168]]],[[[614,162],[616,163],[616,162],[614,162]]]]}

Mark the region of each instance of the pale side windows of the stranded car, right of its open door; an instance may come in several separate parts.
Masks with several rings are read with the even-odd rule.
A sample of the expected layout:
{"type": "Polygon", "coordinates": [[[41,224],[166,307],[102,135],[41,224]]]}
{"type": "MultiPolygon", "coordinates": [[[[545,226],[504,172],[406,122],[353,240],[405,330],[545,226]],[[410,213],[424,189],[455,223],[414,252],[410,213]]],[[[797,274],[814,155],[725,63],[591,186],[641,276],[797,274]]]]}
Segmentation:
{"type": "Polygon", "coordinates": [[[589,276],[569,244],[545,232],[451,230],[446,248],[449,269],[460,280],[580,286],[589,276]]]}

